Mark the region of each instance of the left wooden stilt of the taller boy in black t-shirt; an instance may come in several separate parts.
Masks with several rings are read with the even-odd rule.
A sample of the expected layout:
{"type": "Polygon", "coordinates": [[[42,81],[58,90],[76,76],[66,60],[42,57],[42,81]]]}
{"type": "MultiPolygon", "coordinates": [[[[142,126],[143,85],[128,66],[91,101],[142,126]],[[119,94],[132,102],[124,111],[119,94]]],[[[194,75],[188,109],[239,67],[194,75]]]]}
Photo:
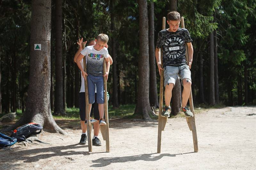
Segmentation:
{"type": "MultiPolygon", "coordinates": [[[[162,29],[165,29],[165,17],[163,17],[162,29]]],[[[163,51],[161,50],[161,67],[163,67],[163,51]]],[[[162,130],[165,128],[167,122],[167,117],[162,117],[163,109],[163,93],[164,93],[164,71],[161,70],[160,73],[160,95],[159,95],[159,114],[158,114],[158,137],[157,137],[157,153],[161,152],[161,137],[162,130]]]]}

